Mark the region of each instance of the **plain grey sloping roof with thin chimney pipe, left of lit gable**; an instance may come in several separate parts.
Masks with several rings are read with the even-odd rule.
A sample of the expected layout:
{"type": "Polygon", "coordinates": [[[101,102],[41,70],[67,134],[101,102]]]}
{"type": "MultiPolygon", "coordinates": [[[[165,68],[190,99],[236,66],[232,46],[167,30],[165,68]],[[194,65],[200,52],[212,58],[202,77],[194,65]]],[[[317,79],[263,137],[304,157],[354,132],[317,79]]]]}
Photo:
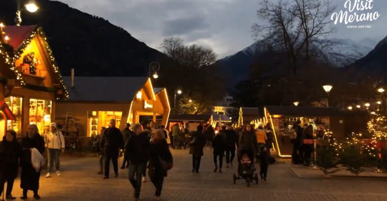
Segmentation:
{"type": "Polygon", "coordinates": [[[64,77],[70,95],[69,101],[132,101],[148,77],[64,77]]]}

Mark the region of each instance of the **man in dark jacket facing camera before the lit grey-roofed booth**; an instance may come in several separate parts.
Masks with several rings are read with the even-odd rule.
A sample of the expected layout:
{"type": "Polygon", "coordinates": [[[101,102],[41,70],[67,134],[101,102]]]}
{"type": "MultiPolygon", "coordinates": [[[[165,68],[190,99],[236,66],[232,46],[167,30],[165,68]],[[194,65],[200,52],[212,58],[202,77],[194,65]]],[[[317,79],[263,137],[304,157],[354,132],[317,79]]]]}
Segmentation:
{"type": "Polygon", "coordinates": [[[111,119],[109,128],[102,135],[101,150],[105,155],[105,177],[109,179],[110,159],[112,159],[115,177],[118,177],[118,154],[124,149],[124,139],[121,131],[116,128],[116,120],[111,119]]]}

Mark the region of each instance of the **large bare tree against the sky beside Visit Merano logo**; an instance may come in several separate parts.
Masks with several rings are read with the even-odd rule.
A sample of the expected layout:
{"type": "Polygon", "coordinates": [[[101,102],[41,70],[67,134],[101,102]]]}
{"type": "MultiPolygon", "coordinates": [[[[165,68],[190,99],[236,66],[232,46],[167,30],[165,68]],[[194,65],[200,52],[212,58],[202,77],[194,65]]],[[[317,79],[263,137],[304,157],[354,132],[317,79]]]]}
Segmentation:
{"type": "Polygon", "coordinates": [[[262,0],[260,5],[257,15],[267,24],[254,24],[252,34],[285,53],[288,71],[294,74],[299,60],[318,56],[326,46],[322,36],[334,31],[327,27],[334,10],[329,0],[262,0]]]}

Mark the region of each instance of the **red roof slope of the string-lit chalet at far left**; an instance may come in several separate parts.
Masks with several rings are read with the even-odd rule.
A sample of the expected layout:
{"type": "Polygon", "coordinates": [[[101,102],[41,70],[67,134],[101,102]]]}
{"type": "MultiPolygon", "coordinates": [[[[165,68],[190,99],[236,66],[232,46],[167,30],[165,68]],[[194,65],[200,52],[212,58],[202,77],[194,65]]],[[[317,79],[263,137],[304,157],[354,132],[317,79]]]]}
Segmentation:
{"type": "Polygon", "coordinates": [[[37,28],[34,26],[5,26],[3,31],[9,37],[8,44],[13,47],[13,50],[18,50],[23,41],[25,41],[32,32],[37,28]]]}

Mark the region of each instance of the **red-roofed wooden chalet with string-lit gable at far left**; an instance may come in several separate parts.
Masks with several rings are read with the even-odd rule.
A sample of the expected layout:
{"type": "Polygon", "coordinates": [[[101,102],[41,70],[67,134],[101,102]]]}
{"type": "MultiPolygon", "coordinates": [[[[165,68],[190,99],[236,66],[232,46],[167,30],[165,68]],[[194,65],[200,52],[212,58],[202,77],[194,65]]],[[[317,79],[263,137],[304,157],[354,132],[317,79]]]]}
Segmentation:
{"type": "Polygon", "coordinates": [[[6,26],[3,32],[8,36],[0,47],[1,77],[7,89],[3,101],[14,119],[3,117],[1,121],[17,137],[26,134],[29,124],[46,134],[55,119],[55,100],[68,97],[46,36],[38,26],[6,26]]]}

